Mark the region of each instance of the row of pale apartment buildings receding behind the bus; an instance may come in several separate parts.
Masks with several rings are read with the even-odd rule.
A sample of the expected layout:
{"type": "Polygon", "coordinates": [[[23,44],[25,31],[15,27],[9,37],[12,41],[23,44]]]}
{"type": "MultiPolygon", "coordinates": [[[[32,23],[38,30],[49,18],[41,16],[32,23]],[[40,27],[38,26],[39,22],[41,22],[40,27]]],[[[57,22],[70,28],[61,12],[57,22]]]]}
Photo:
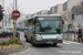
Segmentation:
{"type": "Polygon", "coordinates": [[[69,25],[72,25],[71,28],[74,29],[77,25],[75,20],[79,16],[75,14],[75,18],[74,18],[75,20],[73,21],[71,18],[71,13],[75,13],[75,10],[73,10],[73,7],[82,6],[82,4],[83,4],[83,0],[68,0],[64,3],[60,3],[60,4],[51,7],[50,10],[42,10],[37,13],[30,14],[28,19],[34,15],[41,15],[41,14],[61,14],[64,20],[64,29],[68,29],[69,25]]]}

